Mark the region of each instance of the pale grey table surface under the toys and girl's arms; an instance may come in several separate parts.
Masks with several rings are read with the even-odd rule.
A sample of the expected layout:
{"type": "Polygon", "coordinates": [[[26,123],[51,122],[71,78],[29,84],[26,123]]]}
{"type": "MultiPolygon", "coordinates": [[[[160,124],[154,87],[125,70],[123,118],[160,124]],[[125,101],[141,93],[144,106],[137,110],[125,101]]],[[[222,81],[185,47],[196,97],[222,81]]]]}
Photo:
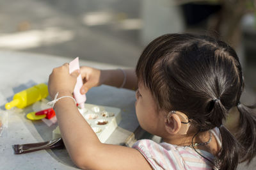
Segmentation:
{"type": "MultiPolygon", "coordinates": [[[[36,102],[25,109],[13,108],[5,111],[4,104],[10,102],[15,93],[35,84],[47,83],[52,68],[68,63],[72,59],[22,52],[0,51],[0,114],[8,112],[8,128],[0,137],[0,169],[76,169],[67,150],[42,150],[15,155],[13,144],[39,143],[52,139],[52,130],[57,123],[48,127],[43,121],[30,121],[26,113],[36,111],[45,103],[36,102]]],[[[80,65],[100,69],[118,68],[90,61],[80,61],[80,65]]],[[[131,138],[138,128],[134,102],[134,91],[110,86],[92,88],[86,94],[87,103],[106,105],[121,109],[122,121],[106,143],[120,144],[131,138]]],[[[49,99],[49,98],[48,98],[49,99]]]]}

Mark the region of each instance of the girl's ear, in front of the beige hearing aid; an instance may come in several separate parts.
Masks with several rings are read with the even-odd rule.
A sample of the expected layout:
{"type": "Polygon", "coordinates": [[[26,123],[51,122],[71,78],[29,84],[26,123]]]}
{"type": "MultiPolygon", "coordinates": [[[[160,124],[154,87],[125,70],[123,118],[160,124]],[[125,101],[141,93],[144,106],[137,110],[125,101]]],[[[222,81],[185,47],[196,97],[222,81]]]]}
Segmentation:
{"type": "Polygon", "coordinates": [[[180,131],[181,122],[177,114],[168,114],[164,119],[165,129],[169,134],[177,134],[180,131]]]}

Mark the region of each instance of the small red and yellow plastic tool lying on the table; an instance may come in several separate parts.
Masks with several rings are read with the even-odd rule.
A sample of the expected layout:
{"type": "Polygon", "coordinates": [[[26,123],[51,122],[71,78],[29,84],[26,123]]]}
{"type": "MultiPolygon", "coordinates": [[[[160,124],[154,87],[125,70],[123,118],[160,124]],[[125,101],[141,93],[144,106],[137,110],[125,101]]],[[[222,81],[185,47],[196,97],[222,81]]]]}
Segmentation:
{"type": "Polygon", "coordinates": [[[38,111],[38,112],[29,112],[27,114],[27,118],[29,120],[42,120],[44,118],[50,120],[54,116],[55,116],[55,112],[52,108],[44,109],[44,110],[38,111]]]}

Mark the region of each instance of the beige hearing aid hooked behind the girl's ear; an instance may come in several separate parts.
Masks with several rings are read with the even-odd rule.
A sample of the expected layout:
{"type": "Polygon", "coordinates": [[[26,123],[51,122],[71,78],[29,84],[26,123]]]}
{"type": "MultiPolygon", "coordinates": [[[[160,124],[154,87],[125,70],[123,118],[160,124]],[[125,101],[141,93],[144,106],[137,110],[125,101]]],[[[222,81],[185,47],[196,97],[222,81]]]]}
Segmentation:
{"type": "Polygon", "coordinates": [[[180,118],[181,127],[180,127],[180,130],[179,130],[178,134],[186,135],[187,132],[188,132],[188,129],[190,127],[190,121],[189,121],[188,116],[186,114],[184,114],[183,112],[170,111],[167,115],[168,123],[170,122],[170,116],[172,114],[177,114],[180,118]]]}

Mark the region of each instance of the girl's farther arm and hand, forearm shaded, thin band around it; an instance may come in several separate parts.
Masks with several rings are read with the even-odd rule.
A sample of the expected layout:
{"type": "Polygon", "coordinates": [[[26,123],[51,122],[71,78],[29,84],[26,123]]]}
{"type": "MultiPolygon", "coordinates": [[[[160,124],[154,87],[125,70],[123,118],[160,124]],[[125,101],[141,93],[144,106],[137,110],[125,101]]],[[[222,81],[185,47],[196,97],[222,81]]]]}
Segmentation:
{"type": "Polygon", "coordinates": [[[126,81],[123,88],[138,89],[138,80],[134,69],[125,69],[125,75],[120,69],[115,70],[98,70],[96,68],[81,66],[81,75],[83,77],[84,85],[81,88],[81,93],[86,93],[90,88],[106,84],[120,88],[125,75],[126,81]]]}

